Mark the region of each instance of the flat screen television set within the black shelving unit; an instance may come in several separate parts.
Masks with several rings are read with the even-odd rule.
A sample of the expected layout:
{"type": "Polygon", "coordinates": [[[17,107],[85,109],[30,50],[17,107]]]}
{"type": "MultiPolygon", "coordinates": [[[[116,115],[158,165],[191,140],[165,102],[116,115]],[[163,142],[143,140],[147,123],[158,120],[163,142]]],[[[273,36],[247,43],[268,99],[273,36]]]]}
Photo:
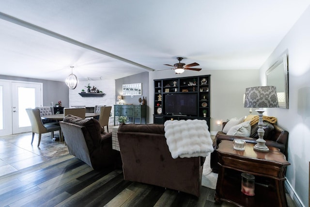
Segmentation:
{"type": "Polygon", "coordinates": [[[165,112],[173,115],[197,116],[197,94],[167,94],[165,112]]]}

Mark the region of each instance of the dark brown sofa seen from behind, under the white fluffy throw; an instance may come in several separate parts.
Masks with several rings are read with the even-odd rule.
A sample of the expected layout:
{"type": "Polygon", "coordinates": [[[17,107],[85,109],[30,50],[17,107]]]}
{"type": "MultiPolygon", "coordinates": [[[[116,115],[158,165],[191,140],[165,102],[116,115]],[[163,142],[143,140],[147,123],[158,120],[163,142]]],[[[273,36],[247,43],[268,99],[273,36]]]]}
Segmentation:
{"type": "Polygon", "coordinates": [[[200,196],[205,158],[173,159],[163,125],[122,124],[118,141],[125,180],[200,196]]]}

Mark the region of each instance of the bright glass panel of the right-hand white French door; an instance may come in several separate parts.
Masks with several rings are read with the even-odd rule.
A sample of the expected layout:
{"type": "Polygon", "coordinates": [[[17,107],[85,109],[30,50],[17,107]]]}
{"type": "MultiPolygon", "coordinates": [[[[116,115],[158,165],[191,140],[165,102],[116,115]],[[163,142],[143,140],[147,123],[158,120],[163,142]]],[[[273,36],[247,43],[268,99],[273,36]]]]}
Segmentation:
{"type": "Polygon", "coordinates": [[[35,108],[35,89],[18,87],[18,100],[18,125],[19,127],[29,127],[31,123],[26,109],[35,108]]]}

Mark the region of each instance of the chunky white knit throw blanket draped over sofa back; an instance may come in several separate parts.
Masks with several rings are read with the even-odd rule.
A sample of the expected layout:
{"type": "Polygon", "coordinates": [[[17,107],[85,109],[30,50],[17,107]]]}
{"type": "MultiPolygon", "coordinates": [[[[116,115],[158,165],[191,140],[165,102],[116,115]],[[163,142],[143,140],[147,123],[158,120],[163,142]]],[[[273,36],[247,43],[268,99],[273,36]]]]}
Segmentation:
{"type": "Polygon", "coordinates": [[[206,157],[213,152],[212,139],[205,120],[168,120],[164,126],[173,159],[206,157]]]}

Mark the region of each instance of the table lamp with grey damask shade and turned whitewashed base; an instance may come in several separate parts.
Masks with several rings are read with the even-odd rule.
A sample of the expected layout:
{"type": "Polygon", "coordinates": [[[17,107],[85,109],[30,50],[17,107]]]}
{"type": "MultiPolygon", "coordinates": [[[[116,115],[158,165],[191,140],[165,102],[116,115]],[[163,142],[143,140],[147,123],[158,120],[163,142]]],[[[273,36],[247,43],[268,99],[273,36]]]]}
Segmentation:
{"type": "Polygon", "coordinates": [[[276,86],[258,86],[246,88],[246,97],[244,102],[246,108],[259,108],[255,110],[258,112],[258,139],[254,146],[254,150],[261,152],[268,152],[269,149],[263,140],[265,131],[263,130],[263,108],[277,108],[279,107],[276,86]]]}

